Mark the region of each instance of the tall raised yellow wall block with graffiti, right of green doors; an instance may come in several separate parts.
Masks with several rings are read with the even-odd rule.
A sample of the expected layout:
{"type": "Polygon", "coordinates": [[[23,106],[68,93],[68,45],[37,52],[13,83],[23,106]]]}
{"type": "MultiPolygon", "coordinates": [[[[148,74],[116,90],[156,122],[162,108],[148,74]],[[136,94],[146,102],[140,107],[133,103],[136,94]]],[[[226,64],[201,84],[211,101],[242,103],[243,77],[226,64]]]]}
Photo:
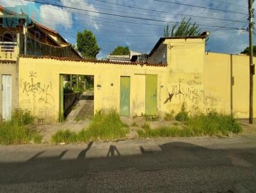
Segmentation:
{"type": "MultiPolygon", "coordinates": [[[[204,105],[204,52],[202,39],[167,39],[169,96],[165,111],[179,112],[184,102],[191,113],[204,105]]],[[[166,96],[165,96],[166,97],[166,96]]]]}

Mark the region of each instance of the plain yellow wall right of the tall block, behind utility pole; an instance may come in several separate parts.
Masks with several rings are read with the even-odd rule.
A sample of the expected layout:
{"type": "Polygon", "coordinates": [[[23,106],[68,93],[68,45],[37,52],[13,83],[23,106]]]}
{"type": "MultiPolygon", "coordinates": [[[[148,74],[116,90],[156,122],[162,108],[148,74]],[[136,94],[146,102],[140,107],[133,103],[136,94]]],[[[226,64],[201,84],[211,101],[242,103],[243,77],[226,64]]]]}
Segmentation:
{"type": "MultiPolygon", "coordinates": [[[[255,61],[256,58],[254,58],[255,61]]],[[[205,54],[205,101],[209,108],[224,113],[233,112],[237,118],[249,116],[249,57],[205,54]]],[[[256,98],[254,79],[254,101],[256,98]]],[[[253,105],[256,117],[256,104],[253,105]]]]}

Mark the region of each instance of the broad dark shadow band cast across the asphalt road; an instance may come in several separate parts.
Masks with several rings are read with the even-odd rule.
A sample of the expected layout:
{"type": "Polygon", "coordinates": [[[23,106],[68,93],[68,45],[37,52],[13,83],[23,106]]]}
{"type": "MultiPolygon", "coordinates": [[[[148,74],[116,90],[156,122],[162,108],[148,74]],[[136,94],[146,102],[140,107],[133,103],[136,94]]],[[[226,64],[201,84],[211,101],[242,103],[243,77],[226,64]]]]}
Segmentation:
{"type": "MultiPolygon", "coordinates": [[[[220,178],[220,181],[221,175],[226,173],[225,171],[221,173],[220,167],[230,172],[229,175],[232,178],[237,175],[237,180],[239,175],[243,176],[244,181],[252,180],[253,173],[255,173],[256,156],[252,152],[256,152],[256,148],[214,150],[195,144],[174,142],[161,144],[157,150],[138,146],[140,153],[137,151],[136,155],[125,155],[118,151],[115,145],[111,144],[109,150],[107,150],[107,157],[88,157],[86,153],[89,150],[95,150],[91,149],[92,144],[93,142],[89,143],[74,159],[63,159],[65,153],[74,150],[74,148],[63,151],[61,147],[58,149],[60,154],[57,156],[43,157],[44,153],[51,151],[51,149],[48,149],[36,153],[26,162],[0,163],[0,185],[79,179],[81,176],[90,176],[90,174],[99,171],[108,171],[110,175],[111,172],[109,171],[119,171],[125,168],[135,168],[136,171],[131,176],[136,176],[143,172],[147,173],[148,171],[168,171],[173,168],[177,169],[177,171],[191,169],[191,175],[193,175],[194,171],[199,168],[200,175],[208,176],[209,171],[211,171],[210,174],[216,179],[220,178]],[[235,158],[235,164],[233,158],[235,158]],[[244,162],[241,162],[241,166],[237,167],[236,164],[241,159],[244,162],[251,163],[251,166],[243,166],[244,162]],[[207,172],[204,173],[204,171],[207,172]]],[[[102,152],[102,149],[100,151],[102,152]]],[[[147,174],[150,175],[149,173],[147,174]]],[[[170,182],[168,179],[166,181],[170,182]]],[[[225,181],[221,181],[221,183],[225,183],[225,181]]],[[[229,180],[227,183],[231,184],[233,182],[229,180]]]]}

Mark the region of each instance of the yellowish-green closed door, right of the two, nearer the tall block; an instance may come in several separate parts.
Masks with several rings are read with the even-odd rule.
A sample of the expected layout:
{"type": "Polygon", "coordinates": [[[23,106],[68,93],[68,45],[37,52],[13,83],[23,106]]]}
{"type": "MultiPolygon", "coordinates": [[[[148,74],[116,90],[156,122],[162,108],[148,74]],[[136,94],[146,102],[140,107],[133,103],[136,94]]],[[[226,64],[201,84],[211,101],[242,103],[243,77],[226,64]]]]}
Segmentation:
{"type": "Polygon", "coordinates": [[[146,115],[157,115],[157,75],[146,75],[146,115]]]}

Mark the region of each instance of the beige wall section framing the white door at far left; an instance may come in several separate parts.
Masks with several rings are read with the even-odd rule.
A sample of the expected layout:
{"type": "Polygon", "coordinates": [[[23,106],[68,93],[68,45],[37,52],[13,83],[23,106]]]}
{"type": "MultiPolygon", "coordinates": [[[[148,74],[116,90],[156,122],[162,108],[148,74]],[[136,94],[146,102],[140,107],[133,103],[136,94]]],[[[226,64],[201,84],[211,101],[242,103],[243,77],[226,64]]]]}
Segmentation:
{"type": "Polygon", "coordinates": [[[19,61],[0,60],[0,118],[3,112],[2,75],[12,75],[12,110],[18,108],[19,96],[19,61]]]}

